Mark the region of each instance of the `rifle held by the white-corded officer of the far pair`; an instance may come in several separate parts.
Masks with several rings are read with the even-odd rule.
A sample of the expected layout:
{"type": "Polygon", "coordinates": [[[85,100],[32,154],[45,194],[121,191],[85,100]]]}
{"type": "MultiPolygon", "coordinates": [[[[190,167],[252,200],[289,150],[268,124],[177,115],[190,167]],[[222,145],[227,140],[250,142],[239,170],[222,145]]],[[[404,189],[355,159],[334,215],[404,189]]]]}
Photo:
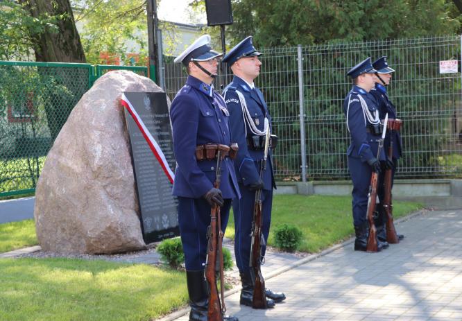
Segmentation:
{"type": "MultiPolygon", "coordinates": [[[[380,159],[380,152],[384,146],[384,139],[386,134],[386,125],[388,123],[388,114],[385,116],[384,129],[382,130],[382,138],[379,140],[379,148],[377,150],[377,159],[380,159]]],[[[369,196],[368,196],[368,210],[367,218],[369,221],[369,236],[368,244],[366,245],[366,252],[379,252],[379,247],[377,245],[377,228],[374,223],[374,212],[375,212],[375,203],[377,202],[377,182],[379,180],[379,174],[373,171],[370,176],[370,185],[369,185],[369,196]]]]}

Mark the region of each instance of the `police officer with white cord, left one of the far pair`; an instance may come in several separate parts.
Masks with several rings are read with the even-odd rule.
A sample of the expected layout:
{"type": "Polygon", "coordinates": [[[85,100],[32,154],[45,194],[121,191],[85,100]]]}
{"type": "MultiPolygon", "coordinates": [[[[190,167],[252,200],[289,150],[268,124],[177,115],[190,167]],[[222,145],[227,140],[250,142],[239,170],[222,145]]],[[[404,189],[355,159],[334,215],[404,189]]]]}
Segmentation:
{"type": "MultiPolygon", "coordinates": [[[[369,225],[366,218],[368,207],[368,191],[370,177],[373,171],[380,172],[380,159],[385,159],[385,153],[377,157],[382,126],[374,96],[369,92],[375,87],[377,71],[373,68],[370,58],[363,60],[348,71],[353,79],[353,87],[343,102],[343,111],[351,136],[348,147],[348,169],[353,182],[352,212],[356,239],[354,250],[366,251],[369,225]]],[[[388,243],[377,242],[379,250],[388,247],[388,243]]]]}

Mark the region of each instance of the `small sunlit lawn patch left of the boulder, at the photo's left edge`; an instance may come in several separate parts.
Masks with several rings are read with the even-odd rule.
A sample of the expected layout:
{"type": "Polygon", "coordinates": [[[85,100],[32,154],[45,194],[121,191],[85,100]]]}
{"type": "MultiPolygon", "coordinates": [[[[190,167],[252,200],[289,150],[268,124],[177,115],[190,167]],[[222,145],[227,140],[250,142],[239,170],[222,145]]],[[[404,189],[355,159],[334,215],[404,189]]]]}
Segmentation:
{"type": "Polygon", "coordinates": [[[37,244],[34,220],[0,224],[0,253],[37,244]]]}

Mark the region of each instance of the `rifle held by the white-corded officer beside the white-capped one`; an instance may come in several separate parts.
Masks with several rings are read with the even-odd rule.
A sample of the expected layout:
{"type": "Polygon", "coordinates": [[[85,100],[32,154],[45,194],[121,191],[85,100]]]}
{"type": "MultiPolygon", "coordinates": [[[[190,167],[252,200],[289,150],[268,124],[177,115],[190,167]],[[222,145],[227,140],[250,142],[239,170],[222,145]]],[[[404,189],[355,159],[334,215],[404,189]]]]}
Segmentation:
{"type": "MultiPolygon", "coordinates": [[[[266,159],[268,158],[268,145],[270,139],[270,128],[268,119],[265,119],[265,148],[264,157],[260,164],[260,178],[263,177],[263,172],[266,169],[266,159]]],[[[253,288],[253,299],[252,307],[254,309],[267,309],[268,303],[266,302],[266,288],[265,280],[260,269],[262,265],[262,245],[265,245],[265,238],[262,234],[263,218],[262,218],[262,189],[255,191],[255,204],[253,208],[253,222],[252,232],[252,243],[250,245],[250,263],[249,266],[253,271],[255,277],[255,285],[253,288]]]]}

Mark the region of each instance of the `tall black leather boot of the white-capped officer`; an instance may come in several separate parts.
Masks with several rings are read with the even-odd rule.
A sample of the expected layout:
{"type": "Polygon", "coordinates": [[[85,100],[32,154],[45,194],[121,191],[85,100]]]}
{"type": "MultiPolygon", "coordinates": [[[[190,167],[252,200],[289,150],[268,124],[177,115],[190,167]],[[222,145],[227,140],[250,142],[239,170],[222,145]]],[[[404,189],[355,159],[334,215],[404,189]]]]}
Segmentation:
{"type": "Polygon", "coordinates": [[[191,306],[189,321],[207,321],[209,289],[205,281],[204,270],[186,271],[186,284],[191,306]]]}

